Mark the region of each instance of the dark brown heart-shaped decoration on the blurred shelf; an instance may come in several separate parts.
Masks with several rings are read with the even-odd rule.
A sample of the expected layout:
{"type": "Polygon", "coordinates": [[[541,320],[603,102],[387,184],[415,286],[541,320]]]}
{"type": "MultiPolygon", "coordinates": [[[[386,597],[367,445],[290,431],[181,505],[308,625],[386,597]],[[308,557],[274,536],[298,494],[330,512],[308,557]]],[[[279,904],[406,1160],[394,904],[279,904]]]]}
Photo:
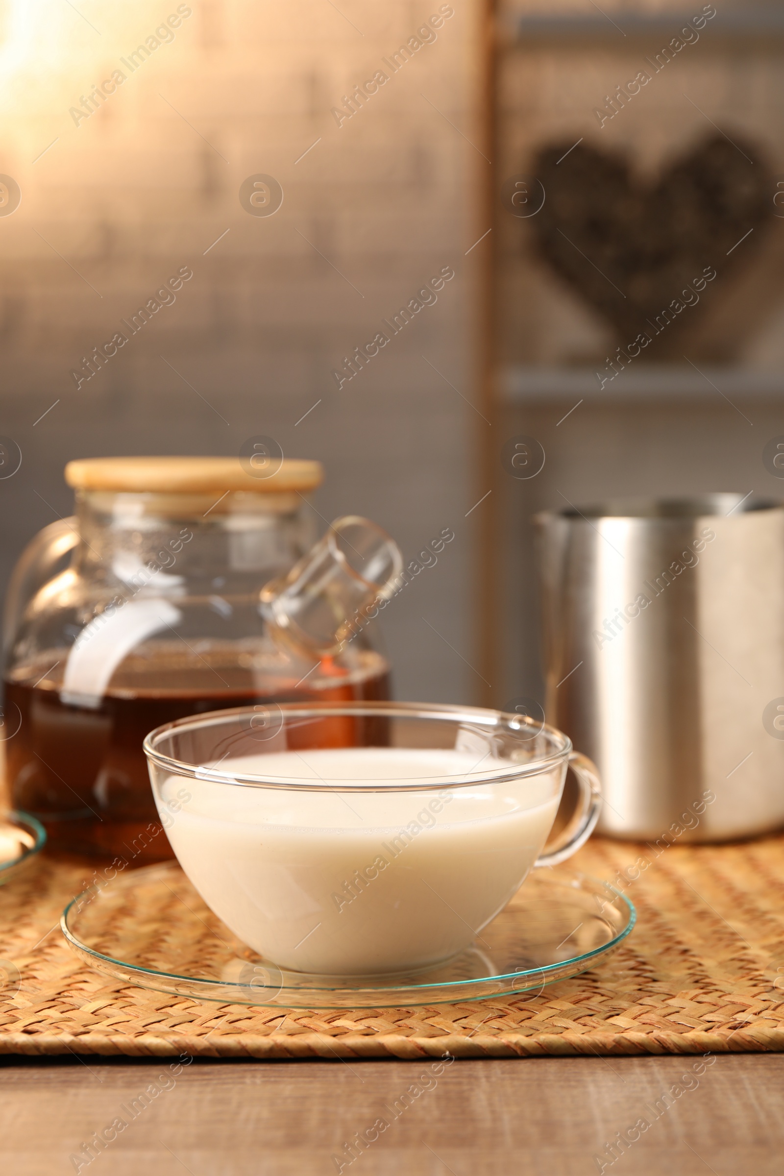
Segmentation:
{"type": "Polygon", "coordinates": [[[544,147],[531,171],[547,194],[530,221],[540,253],[612,323],[618,343],[646,334],[646,358],[682,349],[773,213],[762,154],[737,138],[709,139],[652,185],[622,154],[587,143],[544,147]]]}

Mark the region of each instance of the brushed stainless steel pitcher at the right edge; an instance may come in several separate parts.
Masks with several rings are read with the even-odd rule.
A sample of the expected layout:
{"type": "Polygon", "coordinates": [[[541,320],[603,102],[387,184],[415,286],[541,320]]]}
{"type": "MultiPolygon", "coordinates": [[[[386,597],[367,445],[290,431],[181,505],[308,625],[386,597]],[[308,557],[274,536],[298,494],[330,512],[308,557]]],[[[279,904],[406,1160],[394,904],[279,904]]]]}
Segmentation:
{"type": "Polygon", "coordinates": [[[599,769],[599,831],[783,826],[784,505],[609,501],[535,524],[545,715],[599,769]]]}

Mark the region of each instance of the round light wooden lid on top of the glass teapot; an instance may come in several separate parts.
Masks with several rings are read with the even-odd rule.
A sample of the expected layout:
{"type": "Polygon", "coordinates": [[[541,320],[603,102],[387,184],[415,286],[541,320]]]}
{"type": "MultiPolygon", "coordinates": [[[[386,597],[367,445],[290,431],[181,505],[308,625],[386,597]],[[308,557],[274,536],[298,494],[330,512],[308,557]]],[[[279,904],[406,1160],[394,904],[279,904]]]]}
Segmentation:
{"type": "MultiPolygon", "coordinates": [[[[274,463],[274,466],[277,462],[274,463]]],[[[65,476],[78,490],[136,494],[219,494],[246,490],[270,494],[315,490],[323,481],[319,461],[287,457],[267,476],[240,457],[83,457],[69,461],[65,476]]]]}

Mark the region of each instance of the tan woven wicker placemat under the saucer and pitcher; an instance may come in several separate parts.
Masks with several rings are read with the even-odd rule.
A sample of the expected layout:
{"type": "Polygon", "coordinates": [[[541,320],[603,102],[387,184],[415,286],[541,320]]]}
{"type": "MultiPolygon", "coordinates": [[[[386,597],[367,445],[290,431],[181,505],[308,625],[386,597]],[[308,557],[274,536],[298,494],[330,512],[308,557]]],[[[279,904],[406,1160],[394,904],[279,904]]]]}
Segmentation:
{"type": "Polygon", "coordinates": [[[784,1049],[784,837],[665,849],[594,838],[563,868],[575,867],[616,884],[639,916],[582,976],[536,996],[284,1014],[107,983],[58,926],[83,867],[43,857],[0,889],[0,1053],[422,1060],[784,1049]]]}

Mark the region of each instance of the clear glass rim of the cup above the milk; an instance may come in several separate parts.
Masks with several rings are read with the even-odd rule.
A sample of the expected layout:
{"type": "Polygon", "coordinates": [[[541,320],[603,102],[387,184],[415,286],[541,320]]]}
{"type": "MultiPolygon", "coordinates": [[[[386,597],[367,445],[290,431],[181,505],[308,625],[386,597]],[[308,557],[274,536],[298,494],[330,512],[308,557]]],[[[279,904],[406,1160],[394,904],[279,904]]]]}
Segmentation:
{"type": "MultiPolygon", "coordinates": [[[[535,736],[544,735],[555,747],[555,750],[545,755],[532,755],[529,760],[515,764],[509,771],[500,771],[497,769],[489,773],[477,771],[476,774],[471,774],[470,780],[455,780],[451,782],[449,777],[444,776],[424,776],[384,780],[383,783],[371,784],[354,782],[341,784],[322,780],[310,782],[272,775],[262,776],[228,770],[221,771],[206,764],[187,763],[183,760],[174,759],[158,750],[158,744],[162,743],[173,731],[229,726],[233,720],[237,720],[241,716],[257,714],[256,707],[233,707],[227,710],[212,710],[205,714],[188,715],[186,719],[176,719],[174,722],[156,727],[145,739],[145,754],[148,761],[158,768],[172,773],[172,775],[183,776],[189,780],[210,781],[216,784],[282,788],[292,791],[322,791],[324,788],[328,788],[330,791],[376,793],[427,791],[434,788],[471,788],[477,784],[507,783],[525,779],[527,776],[538,775],[541,771],[567,761],[572,751],[572,743],[569,736],[564,735],[556,727],[550,727],[549,723],[529,720],[525,715],[507,714],[503,710],[491,710],[482,707],[461,707],[449,703],[427,702],[270,702],[268,703],[268,709],[277,711],[282,720],[288,715],[303,721],[347,716],[431,719],[453,722],[455,726],[464,724],[469,728],[473,724],[477,734],[492,735],[494,733],[504,731],[514,737],[516,733],[530,731],[531,734],[524,740],[524,743],[529,748],[535,736]],[[478,728],[482,729],[478,730],[478,728]]],[[[283,722],[281,721],[280,729],[282,729],[282,726],[283,722]]]]}

